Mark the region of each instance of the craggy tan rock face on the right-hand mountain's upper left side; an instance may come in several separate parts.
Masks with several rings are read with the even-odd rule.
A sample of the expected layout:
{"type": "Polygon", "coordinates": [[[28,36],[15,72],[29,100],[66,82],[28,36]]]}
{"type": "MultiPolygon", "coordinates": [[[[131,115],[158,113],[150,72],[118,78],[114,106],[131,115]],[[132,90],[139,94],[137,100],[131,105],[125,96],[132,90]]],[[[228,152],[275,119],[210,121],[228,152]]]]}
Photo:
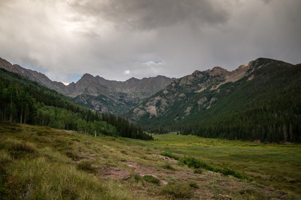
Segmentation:
{"type": "Polygon", "coordinates": [[[133,120],[139,120],[139,116],[147,113],[155,117],[170,115],[175,120],[193,116],[198,111],[213,107],[219,101],[216,94],[220,92],[221,89],[218,88],[222,84],[235,82],[244,76],[249,76],[248,80],[251,80],[254,75],[250,75],[250,72],[253,70],[253,63],[257,62],[258,59],[240,65],[233,71],[221,67],[196,70],[190,75],[173,80],[162,91],[145,99],[139,105],[139,110],[133,108],[134,112],[130,111],[129,116],[133,120]]]}

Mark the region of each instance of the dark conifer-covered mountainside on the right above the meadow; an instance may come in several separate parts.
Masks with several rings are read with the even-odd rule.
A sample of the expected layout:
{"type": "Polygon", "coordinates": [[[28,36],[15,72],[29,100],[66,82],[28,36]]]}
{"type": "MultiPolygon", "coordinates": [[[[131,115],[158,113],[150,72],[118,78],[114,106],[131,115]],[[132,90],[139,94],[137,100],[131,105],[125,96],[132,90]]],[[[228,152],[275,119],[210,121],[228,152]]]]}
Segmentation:
{"type": "Polygon", "coordinates": [[[146,113],[138,123],[158,133],[181,131],[183,135],[210,138],[301,142],[301,65],[264,58],[249,65],[242,78],[224,84],[220,84],[222,73],[211,76],[216,81],[209,83],[206,71],[198,72],[203,73],[200,84],[207,83],[200,92],[188,90],[194,85],[174,81],[166,91],[142,103],[157,99],[154,107],[161,113],[146,113]],[[164,100],[171,94],[178,96],[164,100]],[[162,102],[165,112],[160,109],[162,102]]]}

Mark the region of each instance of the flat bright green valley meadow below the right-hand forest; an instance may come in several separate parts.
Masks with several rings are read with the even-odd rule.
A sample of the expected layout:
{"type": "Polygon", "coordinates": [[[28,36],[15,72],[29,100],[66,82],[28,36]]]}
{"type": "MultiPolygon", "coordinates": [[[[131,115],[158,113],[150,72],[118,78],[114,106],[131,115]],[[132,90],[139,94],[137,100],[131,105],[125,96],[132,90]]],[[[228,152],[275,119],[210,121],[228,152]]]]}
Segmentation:
{"type": "Polygon", "coordinates": [[[193,156],[216,168],[233,168],[265,186],[301,194],[301,144],[263,144],[176,135],[154,135],[151,143],[132,143],[163,152],[193,156]]]}

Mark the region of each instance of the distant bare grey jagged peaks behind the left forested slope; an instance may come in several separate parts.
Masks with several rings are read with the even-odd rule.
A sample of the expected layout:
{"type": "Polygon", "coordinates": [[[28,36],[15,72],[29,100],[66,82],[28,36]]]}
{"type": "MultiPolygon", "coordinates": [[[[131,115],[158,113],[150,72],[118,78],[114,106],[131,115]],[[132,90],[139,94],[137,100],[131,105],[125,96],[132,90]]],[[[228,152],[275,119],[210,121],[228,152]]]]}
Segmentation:
{"type": "Polygon", "coordinates": [[[126,113],[140,99],[150,97],[175,80],[175,78],[157,76],[141,80],[133,77],[126,81],[115,81],[84,74],[76,83],[72,82],[66,86],[61,82],[50,80],[37,71],[22,68],[20,65],[12,65],[2,58],[0,58],[0,68],[28,77],[43,86],[73,98],[88,108],[116,115],[126,113]]]}

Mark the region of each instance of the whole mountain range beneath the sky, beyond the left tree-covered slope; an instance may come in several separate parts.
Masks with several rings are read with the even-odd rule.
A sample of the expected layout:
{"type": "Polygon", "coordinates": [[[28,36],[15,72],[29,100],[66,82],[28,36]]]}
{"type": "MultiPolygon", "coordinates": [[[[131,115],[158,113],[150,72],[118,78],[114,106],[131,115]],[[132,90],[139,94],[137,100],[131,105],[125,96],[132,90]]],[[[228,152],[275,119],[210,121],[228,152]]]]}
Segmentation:
{"type": "Polygon", "coordinates": [[[0,67],[149,132],[301,142],[301,64],[258,58],[233,71],[214,67],[177,79],[114,81],[84,74],[68,86],[4,59],[0,67]]]}

